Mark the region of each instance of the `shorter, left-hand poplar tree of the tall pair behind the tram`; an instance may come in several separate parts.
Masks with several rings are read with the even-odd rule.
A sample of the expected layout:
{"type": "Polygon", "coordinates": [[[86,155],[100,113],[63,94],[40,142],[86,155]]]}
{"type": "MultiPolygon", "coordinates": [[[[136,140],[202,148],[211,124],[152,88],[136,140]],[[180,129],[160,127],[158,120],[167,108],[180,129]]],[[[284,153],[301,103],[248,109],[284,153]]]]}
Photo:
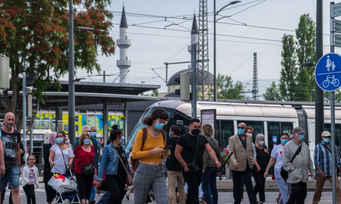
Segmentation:
{"type": "MultiPolygon", "coordinates": [[[[295,40],[293,35],[284,34],[282,38],[282,70],[281,78],[279,83],[279,91],[281,98],[279,100],[294,101],[295,100],[295,89],[296,89],[296,75],[298,68],[296,67],[296,56],[295,56],[295,40]]],[[[273,83],[271,86],[276,85],[273,83]]],[[[271,88],[271,87],[270,87],[271,88]]]]}

